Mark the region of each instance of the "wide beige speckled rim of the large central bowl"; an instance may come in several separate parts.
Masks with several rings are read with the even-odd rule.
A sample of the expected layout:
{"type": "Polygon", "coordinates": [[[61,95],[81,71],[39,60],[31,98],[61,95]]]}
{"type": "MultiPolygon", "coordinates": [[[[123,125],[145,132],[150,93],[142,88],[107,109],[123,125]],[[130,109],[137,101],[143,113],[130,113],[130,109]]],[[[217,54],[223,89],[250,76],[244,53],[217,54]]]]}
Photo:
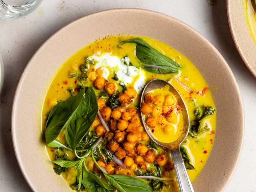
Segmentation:
{"type": "Polygon", "coordinates": [[[16,90],[12,137],[20,169],[33,191],[71,191],[52,170],[41,133],[41,109],[50,82],[62,63],[86,44],[106,35],[141,35],[163,41],[200,70],[217,107],[213,149],[195,191],[217,192],[227,185],[241,152],[244,114],[234,75],[226,61],[197,31],[167,15],[142,9],[112,9],[72,22],[33,55],[16,90]]]}

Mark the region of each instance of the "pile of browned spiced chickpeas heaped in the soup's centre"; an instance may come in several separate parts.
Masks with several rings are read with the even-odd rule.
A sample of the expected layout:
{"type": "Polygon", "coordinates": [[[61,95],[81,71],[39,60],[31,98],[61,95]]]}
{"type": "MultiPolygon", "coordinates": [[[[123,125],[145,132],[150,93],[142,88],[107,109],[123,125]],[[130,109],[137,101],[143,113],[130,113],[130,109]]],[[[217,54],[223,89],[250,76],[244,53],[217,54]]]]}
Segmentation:
{"type": "MultiPolygon", "coordinates": [[[[115,83],[108,83],[101,78],[97,80],[97,78],[94,80],[96,89],[104,89],[109,95],[115,93],[117,89],[115,83]]],[[[114,153],[126,166],[124,168],[114,161],[107,162],[102,158],[98,164],[104,167],[108,174],[136,175],[137,169],[146,170],[152,164],[164,167],[166,172],[173,170],[173,166],[170,169],[172,162],[167,158],[164,150],[159,153],[156,149],[148,146],[150,138],[141,124],[138,109],[132,105],[136,96],[137,91],[133,87],[129,87],[124,92],[119,93],[120,107],[114,109],[107,106],[106,100],[97,99],[100,114],[107,122],[110,131],[105,130],[98,116],[91,127],[98,136],[104,137],[104,143],[108,150],[114,153]]],[[[148,105],[148,103],[145,104],[148,105]]],[[[152,113],[152,107],[150,110],[152,113]]],[[[95,164],[93,166],[93,161],[87,162],[87,167],[95,172],[100,172],[95,164]]],[[[167,177],[168,173],[165,173],[165,176],[167,177]]]]}

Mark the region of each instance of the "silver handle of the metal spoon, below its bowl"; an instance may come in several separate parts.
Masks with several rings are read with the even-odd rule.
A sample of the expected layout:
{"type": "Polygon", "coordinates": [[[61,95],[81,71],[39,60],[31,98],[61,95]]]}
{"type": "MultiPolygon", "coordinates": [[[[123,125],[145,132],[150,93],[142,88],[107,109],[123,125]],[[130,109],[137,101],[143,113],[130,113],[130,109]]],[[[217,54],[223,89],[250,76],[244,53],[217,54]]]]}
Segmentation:
{"type": "Polygon", "coordinates": [[[180,154],[180,149],[171,149],[171,156],[173,158],[173,165],[180,192],[194,192],[185,164],[180,154]]]}

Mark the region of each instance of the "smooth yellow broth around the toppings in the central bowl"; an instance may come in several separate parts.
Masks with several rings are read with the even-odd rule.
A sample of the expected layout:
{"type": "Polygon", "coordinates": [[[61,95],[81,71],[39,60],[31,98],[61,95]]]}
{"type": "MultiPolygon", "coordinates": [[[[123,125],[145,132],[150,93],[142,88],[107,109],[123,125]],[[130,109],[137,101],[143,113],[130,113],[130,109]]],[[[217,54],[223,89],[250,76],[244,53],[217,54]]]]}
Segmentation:
{"type": "MultiPolygon", "coordinates": [[[[135,38],[134,36],[109,36],[104,39],[97,40],[78,52],[76,52],[74,55],[72,55],[59,69],[56,76],[52,80],[52,83],[50,84],[47,94],[45,96],[45,101],[43,104],[42,109],[42,130],[45,129],[46,124],[46,116],[51,111],[52,107],[57,104],[58,101],[65,101],[70,98],[70,94],[76,95],[77,85],[79,84],[78,79],[76,77],[70,78],[71,74],[79,74],[80,69],[79,66],[83,63],[85,63],[85,57],[97,55],[100,57],[101,55],[104,55],[106,53],[110,53],[110,55],[115,55],[119,57],[119,59],[128,56],[130,58],[130,62],[134,66],[139,66],[139,62],[137,57],[135,57],[135,44],[132,43],[126,43],[122,44],[121,41],[127,41],[128,39],[135,38]]],[[[168,57],[172,58],[176,62],[178,62],[180,65],[182,65],[181,68],[179,68],[178,73],[174,74],[153,74],[150,72],[147,72],[140,68],[141,71],[140,76],[145,76],[144,80],[145,83],[152,79],[164,79],[166,81],[171,82],[171,84],[180,92],[181,96],[185,100],[189,112],[190,120],[193,121],[195,117],[195,109],[198,105],[202,106],[211,106],[215,109],[215,104],[213,101],[213,97],[211,95],[210,90],[208,89],[208,85],[200,72],[197,70],[197,68],[187,59],[184,55],[182,55],[180,52],[175,50],[174,48],[168,46],[167,44],[150,39],[148,37],[140,37],[144,41],[146,41],[150,46],[157,49],[159,52],[161,52],[164,55],[167,55],[168,57]],[[175,77],[175,78],[174,78],[175,77]],[[178,79],[178,80],[177,80],[178,79]],[[182,83],[185,84],[189,89],[185,88],[182,83]],[[191,91],[193,90],[193,91],[191,91]]],[[[99,67],[98,70],[95,70],[95,65],[91,65],[88,69],[88,79],[85,85],[85,87],[88,87],[92,85],[94,87],[94,81],[97,76],[104,76],[104,70],[99,67]]],[[[105,66],[109,70],[109,76],[106,79],[108,83],[115,83],[116,81],[113,79],[113,76],[115,74],[115,71],[110,66],[105,66]]],[[[138,80],[139,76],[136,76],[135,79],[128,85],[128,87],[134,87],[136,80],[138,80]]],[[[95,89],[96,96],[100,95],[100,92],[102,90],[95,89]]],[[[122,86],[117,84],[117,90],[121,91],[123,90],[122,86]]],[[[140,100],[140,94],[139,92],[141,90],[141,87],[138,87],[137,94],[135,98],[132,98],[132,102],[127,104],[125,106],[126,109],[128,107],[133,106],[137,107],[139,110],[139,100],[140,100]]],[[[122,109],[123,110],[123,109],[122,109]]],[[[205,129],[198,133],[196,138],[187,137],[182,146],[186,149],[187,155],[189,156],[190,163],[194,166],[195,169],[193,170],[187,170],[189,177],[191,181],[194,181],[195,178],[200,174],[202,168],[206,164],[206,161],[210,155],[211,149],[213,147],[213,142],[215,138],[215,127],[216,127],[216,113],[207,116],[203,119],[202,123],[203,128],[205,129]]],[[[92,130],[95,130],[95,128],[91,128],[92,130]]],[[[144,132],[143,132],[144,133],[144,132]]],[[[162,134],[158,135],[158,137],[166,138],[165,135],[162,134]]],[[[65,142],[65,134],[61,133],[59,135],[59,140],[61,142],[65,142]]],[[[141,141],[141,143],[145,143],[141,141]]],[[[49,155],[49,158],[51,161],[56,160],[54,156],[54,148],[50,148],[46,145],[46,150],[49,155]]],[[[163,149],[160,150],[160,152],[163,151],[163,149]]],[[[72,153],[72,151],[66,151],[68,154],[68,157],[71,161],[74,161],[76,159],[75,155],[72,153]]],[[[159,152],[159,151],[158,151],[159,152]]],[[[169,152],[165,152],[166,156],[168,157],[169,152]]],[[[89,162],[91,162],[89,157],[86,159],[87,165],[89,162]]],[[[168,157],[169,158],[169,157],[168,157]]],[[[171,164],[171,161],[168,162],[171,164]]],[[[154,164],[154,162],[153,162],[154,164]]],[[[88,165],[89,166],[89,165],[88,165]]],[[[150,164],[151,166],[151,164],[150,164]]],[[[132,172],[132,175],[134,175],[134,172],[136,171],[136,167],[130,168],[129,172],[132,172]]],[[[63,179],[67,181],[69,185],[72,185],[76,182],[76,170],[74,170],[74,167],[68,168],[65,172],[62,172],[61,175],[63,179]]],[[[178,191],[178,185],[175,178],[175,173],[173,168],[168,170],[167,173],[163,175],[164,177],[171,177],[173,178],[172,182],[169,183],[167,186],[163,186],[163,191],[178,191]]]]}

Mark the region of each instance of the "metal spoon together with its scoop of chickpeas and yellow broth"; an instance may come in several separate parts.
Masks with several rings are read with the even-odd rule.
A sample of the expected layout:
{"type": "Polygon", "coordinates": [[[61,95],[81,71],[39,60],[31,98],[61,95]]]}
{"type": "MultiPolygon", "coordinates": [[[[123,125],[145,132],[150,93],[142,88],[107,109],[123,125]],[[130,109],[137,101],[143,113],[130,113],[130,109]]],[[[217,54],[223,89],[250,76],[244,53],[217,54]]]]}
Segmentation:
{"type": "Polygon", "coordinates": [[[180,192],[194,192],[180,153],[180,144],[189,132],[189,116],[184,100],[170,83],[153,79],[142,92],[140,106],[142,123],[149,137],[171,151],[180,192]],[[167,137],[160,139],[158,134],[167,137]]]}

